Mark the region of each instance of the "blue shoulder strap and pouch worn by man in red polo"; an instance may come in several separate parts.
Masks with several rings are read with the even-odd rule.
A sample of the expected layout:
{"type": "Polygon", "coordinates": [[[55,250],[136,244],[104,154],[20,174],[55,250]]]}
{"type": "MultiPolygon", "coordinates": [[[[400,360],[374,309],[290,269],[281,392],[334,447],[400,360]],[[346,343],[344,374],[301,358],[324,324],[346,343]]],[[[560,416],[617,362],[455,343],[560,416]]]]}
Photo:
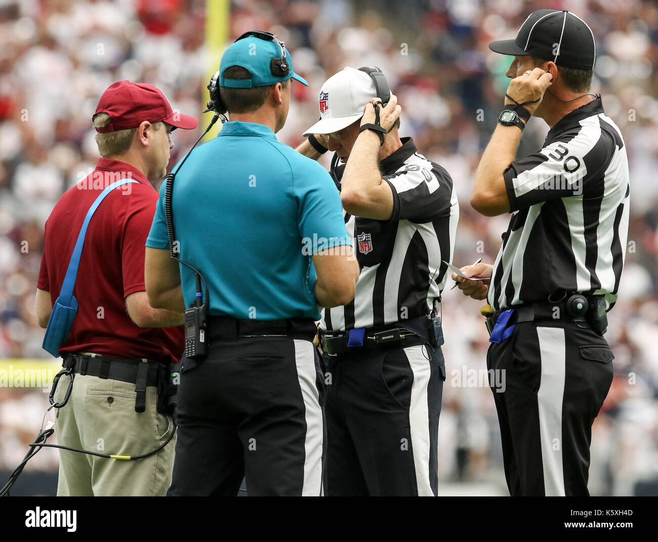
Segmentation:
{"type": "Polygon", "coordinates": [[[113,182],[107,186],[101,194],[99,194],[95,202],[89,207],[89,211],[87,211],[87,215],[82,223],[82,228],[80,228],[80,233],[78,234],[76,246],[73,249],[71,259],[68,262],[68,269],[66,269],[66,276],[62,283],[62,289],[60,290],[59,297],[53,306],[53,312],[51,312],[48,320],[48,327],[46,328],[45,336],[43,337],[43,344],[41,345],[44,350],[53,354],[55,358],[59,356],[59,347],[66,340],[66,337],[68,337],[68,332],[73,324],[73,319],[78,312],[78,300],[73,296],[73,288],[76,285],[76,278],[78,277],[78,266],[80,265],[80,256],[82,256],[82,247],[84,246],[84,238],[87,234],[89,221],[91,221],[93,213],[96,212],[96,209],[98,209],[98,206],[105,199],[107,194],[112,192],[114,188],[118,188],[124,184],[130,184],[131,182],[137,181],[125,178],[113,182]]]}

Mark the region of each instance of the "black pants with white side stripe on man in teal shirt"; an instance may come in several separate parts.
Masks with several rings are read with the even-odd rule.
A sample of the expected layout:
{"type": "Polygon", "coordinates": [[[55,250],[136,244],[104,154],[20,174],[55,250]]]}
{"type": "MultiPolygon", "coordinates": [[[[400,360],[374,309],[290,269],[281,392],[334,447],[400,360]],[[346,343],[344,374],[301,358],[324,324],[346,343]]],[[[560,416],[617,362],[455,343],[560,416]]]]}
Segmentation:
{"type": "Polygon", "coordinates": [[[309,340],[211,343],[180,375],[178,442],[168,495],[322,493],[324,377],[309,340]]]}

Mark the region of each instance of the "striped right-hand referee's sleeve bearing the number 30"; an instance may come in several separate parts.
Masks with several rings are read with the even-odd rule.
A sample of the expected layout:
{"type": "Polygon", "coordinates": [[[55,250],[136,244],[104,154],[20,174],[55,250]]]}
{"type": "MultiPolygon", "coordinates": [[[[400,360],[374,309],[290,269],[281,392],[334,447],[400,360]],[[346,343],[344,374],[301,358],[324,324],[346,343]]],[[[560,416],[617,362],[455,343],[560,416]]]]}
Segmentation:
{"type": "Polygon", "coordinates": [[[596,117],[574,134],[564,134],[537,153],[515,160],[503,173],[511,211],[596,190],[601,168],[609,162],[607,136],[596,117]]]}

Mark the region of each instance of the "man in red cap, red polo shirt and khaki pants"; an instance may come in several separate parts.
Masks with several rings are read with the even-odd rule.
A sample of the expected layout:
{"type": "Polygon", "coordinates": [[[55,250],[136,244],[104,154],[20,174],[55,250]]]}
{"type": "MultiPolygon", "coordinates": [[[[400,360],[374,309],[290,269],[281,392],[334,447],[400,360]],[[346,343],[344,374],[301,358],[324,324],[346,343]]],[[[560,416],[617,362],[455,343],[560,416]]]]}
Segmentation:
{"type": "MultiPolygon", "coordinates": [[[[158,383],[182,354],[184,307],[179,313],[149,306],[144,244],[158,200],[153,184],[166,175],[174,146],[169,134],[195,128],[197,120],[174,112],[155,86],[120,81],[101,96],[93,125],[102,157],[46,221],[36,314],[47,327],[92,203],[114,181],[136,181],[108,194],[89,222],[74,288],[78,313],[59,348],[74,373],[72,393],[55,425],[61,445],[134,456],[159,447],[173,429],[158,383]]],[[[57,402],[69,381],[59,381],[57,402]]],[[[67,450],[60,458],[58,495],[164,495],[174,442],[134,461],[67,450]]]]}

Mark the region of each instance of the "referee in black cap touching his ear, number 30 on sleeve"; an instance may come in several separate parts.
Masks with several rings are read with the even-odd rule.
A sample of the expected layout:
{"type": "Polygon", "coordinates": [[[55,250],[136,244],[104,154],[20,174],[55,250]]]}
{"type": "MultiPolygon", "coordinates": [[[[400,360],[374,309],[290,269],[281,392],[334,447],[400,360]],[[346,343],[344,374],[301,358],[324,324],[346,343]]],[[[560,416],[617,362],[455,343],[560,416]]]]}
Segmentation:
{"type": "Polygon", "coordinates": [[[542,9],[515,40],[489,46],[515,58],[471,204],[512,215],[495,263],[453,279],[488,300],[487,366],[505,373],[505,390],[492,391],[511,495],[589,495],[592,422],[613,379],[603,334],[628,233],[626,146],[601,97],[588,94],[596,43],[580,17],[542,9]],[[531,115],[550,130],[542,149],[515,160],[531,115]]]}

